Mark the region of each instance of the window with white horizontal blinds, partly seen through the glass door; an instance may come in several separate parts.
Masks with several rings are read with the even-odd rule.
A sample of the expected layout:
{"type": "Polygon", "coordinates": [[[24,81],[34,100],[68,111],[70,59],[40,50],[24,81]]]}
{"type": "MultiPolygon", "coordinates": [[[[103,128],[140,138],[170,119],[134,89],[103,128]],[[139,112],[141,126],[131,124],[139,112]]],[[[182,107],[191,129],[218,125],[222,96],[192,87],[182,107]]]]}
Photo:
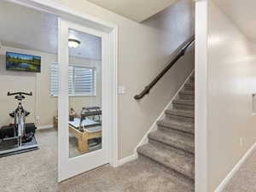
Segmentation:
{"type": "MultiPolygon", "coordinates": [[[[59,66],[53,62],[50,67],[50,95],[58,95],[59,66]]],[[[69,96],[96,96],[96,69],[92,67],[68,67],[69,96]]]]}

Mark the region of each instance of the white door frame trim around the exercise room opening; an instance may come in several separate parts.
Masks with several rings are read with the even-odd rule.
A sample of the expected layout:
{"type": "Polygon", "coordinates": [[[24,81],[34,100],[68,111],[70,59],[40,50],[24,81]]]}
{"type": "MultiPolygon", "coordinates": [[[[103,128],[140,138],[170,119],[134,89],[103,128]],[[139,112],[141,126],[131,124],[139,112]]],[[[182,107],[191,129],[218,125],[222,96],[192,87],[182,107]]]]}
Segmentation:
{"type": "MultiPolygon", "coordinates": [[[[12,3],[20,3],[32,9],[38,9],[40,11],[49,12],[50,14],[61,16],[64,19],[78,20],[79,24],[89,27],[95,27],[102,30],[102,32],[108,32],[109,35],[109,62],[112,64],[112,79],[111,84],[113,86],[112,92],[112,131],[110,140],[110,162],[111,166],[118,166],[118,26],[96,18],[92,15],[87,15],[76,9],[70,9],[67,6],[63,6],[61,3],[57,3],[52,0],[8,0],[12,3]]],[[[60,181],[60,180],[59,180],[60,181]]]]}

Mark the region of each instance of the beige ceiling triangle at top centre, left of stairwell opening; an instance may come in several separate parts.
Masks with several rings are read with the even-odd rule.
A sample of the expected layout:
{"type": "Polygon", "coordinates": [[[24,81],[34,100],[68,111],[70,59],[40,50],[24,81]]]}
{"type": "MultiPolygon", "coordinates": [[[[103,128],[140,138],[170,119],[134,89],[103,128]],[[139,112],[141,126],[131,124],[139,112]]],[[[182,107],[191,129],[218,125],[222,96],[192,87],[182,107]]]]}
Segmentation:
{"type": "Polygon", "coordinates": [[[166,9],[177,0],[87,0],[90,3],[141,22],[166,9]]]}

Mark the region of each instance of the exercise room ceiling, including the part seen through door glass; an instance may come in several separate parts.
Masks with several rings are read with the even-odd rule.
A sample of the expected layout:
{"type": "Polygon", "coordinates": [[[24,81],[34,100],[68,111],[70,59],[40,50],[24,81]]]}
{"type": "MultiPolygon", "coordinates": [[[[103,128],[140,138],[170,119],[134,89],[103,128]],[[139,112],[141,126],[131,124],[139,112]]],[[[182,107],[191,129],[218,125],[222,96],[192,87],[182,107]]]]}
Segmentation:
{"type": "MultiPolygon", "coordinates": [[[[57,53],[58,20],[55,15],[0,1],[0,26],[0,42],[5,46],[57,53]]],[[[101,59],[101,38],[81,32],[70,32],[70,36],[81,42],[79,48],[69,49],[70,55],[101,59]]]]}

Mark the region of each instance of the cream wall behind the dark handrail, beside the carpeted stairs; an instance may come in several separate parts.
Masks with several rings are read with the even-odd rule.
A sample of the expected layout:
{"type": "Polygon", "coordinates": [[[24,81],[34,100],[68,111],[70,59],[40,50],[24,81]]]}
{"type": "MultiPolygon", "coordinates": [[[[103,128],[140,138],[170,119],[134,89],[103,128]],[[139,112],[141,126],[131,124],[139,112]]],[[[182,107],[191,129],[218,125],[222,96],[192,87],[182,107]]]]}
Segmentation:
{"type": "Polygon", "coordinates": [[[172,51],[194,33],[194,3],[179,0],[169,12],[175,18],[171,23],[170,16],[149,21],[149,25],[128,20],[85,0],[56,2],[119,26],[118,82],[126,88],[118,103],[119,159],[129,156],[194,67],[191,54],[166,73],[148,96],[140,102],[133,99],[166,66],[172,51]]]}

